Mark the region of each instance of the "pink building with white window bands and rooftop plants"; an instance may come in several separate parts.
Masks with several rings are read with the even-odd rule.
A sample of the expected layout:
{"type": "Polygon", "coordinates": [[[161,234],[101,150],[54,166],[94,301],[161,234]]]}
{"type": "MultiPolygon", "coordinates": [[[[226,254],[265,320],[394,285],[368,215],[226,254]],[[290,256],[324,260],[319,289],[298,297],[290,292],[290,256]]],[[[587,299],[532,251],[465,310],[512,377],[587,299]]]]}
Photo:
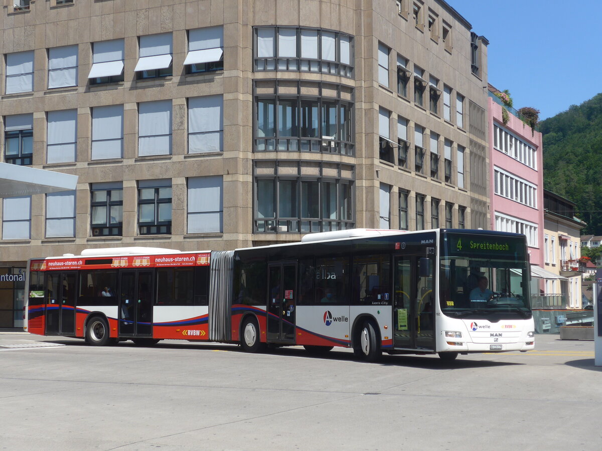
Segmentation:
{"type": "Polygon", "coordinates": [[[544,268],[544,175],[541,133],[523,123],[489,85],[491,229],[524,233],[532,266],[544,268]],[[503,109],[507,111],[504,124],[503,109]]]}

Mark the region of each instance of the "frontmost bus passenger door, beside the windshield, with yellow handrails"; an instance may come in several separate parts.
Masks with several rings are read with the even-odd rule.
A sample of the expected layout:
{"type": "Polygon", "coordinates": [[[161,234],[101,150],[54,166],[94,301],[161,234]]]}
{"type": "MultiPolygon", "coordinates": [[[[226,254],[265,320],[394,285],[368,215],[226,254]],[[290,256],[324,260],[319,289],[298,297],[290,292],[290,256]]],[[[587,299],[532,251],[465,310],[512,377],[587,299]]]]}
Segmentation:
{"type": "Polygon", "coordinates": [[[394,347],[435,349],[435,291],[431,274],[420,274],[420,256],[396,256],[393,305],[394,347]]]}

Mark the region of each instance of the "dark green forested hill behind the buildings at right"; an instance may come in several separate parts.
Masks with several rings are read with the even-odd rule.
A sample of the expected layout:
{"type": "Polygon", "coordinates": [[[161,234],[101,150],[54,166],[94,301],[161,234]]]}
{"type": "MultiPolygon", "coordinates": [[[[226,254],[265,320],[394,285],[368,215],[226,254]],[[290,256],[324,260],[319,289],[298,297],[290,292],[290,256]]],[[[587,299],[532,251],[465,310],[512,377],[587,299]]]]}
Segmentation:
{"type": "Polygon", "coordinates": [[[544,138],[544,186],[577,204],[588,223],[582,235],[602,235],[602,93],[539,123],[544,138]]]}

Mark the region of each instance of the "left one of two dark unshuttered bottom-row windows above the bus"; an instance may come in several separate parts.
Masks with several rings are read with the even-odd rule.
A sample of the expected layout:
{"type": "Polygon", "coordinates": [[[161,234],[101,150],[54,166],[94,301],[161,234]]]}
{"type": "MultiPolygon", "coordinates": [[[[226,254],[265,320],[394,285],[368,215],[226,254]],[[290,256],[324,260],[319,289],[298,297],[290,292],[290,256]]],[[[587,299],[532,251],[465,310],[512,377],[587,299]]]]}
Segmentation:
{"type": "Polygon", "coordinates": [[[123,226],[122,182],[92,183],[92,236],[121,236],[123,226]]]}

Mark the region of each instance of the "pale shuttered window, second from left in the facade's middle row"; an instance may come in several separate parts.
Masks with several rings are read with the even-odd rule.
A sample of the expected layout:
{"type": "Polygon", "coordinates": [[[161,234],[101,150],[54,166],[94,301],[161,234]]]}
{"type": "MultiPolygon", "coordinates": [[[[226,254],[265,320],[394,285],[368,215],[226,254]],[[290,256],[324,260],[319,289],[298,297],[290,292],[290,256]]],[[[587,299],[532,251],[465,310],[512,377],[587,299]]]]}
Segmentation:
{"type": "Polygon", "coordinates": [[[48,163],[75,161],[77,149],[77,110],[48,112],[48,163]]]}

